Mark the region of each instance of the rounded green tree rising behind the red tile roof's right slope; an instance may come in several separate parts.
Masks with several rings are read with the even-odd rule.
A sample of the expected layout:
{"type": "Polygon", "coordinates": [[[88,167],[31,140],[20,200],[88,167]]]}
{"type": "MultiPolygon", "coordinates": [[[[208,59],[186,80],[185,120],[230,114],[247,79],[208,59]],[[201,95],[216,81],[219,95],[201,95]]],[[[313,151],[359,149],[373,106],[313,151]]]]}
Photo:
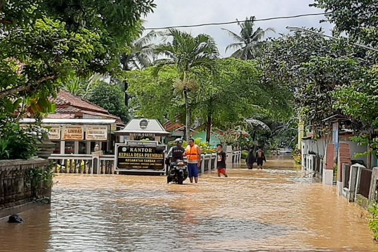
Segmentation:
{"type": "Polygon", "coordinates": [[[124,122],[130,120],[128,108],[124,105],[124,93],[117,85],[100,82],[93,89],[89,100],[119,116],[124,122]]]}

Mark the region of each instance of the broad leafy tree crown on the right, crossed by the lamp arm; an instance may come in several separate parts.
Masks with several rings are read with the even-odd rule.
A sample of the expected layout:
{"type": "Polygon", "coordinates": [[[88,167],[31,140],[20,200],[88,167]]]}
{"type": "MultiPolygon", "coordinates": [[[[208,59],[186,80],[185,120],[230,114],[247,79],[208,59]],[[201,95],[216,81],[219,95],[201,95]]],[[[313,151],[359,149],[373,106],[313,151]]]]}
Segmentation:
{"type": "Polygon", "coordinates": [[[301,119],[314,128],[338,112],[332,106],[336,87],[349,85],[371,62],[364,50],[345,39],[330,40],[312,33],[269,39],[261,50],[257,61],[264,71],[263,80],[281,91],[275,92],[276,100],[288,102],[288,107],[293,104],[297,114],[304,117],[301,119]]]}

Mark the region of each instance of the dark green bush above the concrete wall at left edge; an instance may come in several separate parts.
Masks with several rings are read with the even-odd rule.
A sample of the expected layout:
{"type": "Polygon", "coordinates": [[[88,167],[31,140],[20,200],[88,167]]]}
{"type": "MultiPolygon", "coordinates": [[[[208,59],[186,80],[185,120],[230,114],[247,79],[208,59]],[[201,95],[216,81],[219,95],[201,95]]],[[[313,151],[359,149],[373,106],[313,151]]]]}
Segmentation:
{"type": "Polygon", "coordinates": [[[8,121],[0,127],[0,159],[28,159],[36,154],[34,129],[8,121]]]}

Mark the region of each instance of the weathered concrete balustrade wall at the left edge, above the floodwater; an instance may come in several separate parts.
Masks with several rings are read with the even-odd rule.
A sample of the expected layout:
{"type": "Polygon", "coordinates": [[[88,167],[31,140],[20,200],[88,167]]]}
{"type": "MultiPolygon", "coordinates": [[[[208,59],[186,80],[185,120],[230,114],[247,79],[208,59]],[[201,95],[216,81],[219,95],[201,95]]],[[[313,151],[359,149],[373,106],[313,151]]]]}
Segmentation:
{"type": "Polygon", "coordinates": [[[41,158],[0,160],[0,218],[7,208],[23,205],[37,196],[50,196],[51,188],[42,191],[43,195],[36,195],[28,176],[31,169],[45,167],[47,162],[41,158]]]}

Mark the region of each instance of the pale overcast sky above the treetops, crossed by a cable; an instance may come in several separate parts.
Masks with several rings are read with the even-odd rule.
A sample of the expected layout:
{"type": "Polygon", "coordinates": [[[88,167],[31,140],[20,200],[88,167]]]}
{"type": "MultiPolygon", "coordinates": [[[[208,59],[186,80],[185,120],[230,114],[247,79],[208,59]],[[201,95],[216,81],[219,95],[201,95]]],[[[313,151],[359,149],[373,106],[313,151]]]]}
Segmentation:
{"type": "MultiPolygon", "coordinates": [[[[173,25],[190,25],[200,23],[228,22],[244,20],[245,17],[256,16],[257,19],[278,16],[293,16],[308,13],[324,12],[308,5],[313,0],[155,0],[157,5],[154,13],[146,18],[145,27],[165,27],[173,25]]],[[[330,34],[332,26],[329,23],[319,23],[324,16],[301,17],[293,19],[257,22],[257,27],[264,29],[272,27],[278,33],[287,33],[286,26],[323,27],[330,34]]],[[[236,24],[222,26],[205,26],[186,28],[185,31],[193,35],[207,33],[215,38],[222,55],[226,56],[225,47],[232,43],[232,39],[221,30],[227,28],[239,32],[236,24]]]]}

